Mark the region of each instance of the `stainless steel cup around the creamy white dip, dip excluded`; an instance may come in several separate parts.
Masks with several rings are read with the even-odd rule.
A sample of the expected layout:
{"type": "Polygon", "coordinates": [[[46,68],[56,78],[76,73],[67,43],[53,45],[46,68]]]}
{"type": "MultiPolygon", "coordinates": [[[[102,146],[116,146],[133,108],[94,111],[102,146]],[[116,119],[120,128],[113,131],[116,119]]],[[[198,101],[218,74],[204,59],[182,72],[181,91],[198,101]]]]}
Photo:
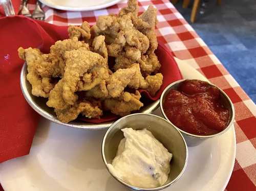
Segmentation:
{"type": "Polygon", "coordinates": [[[105,165],[112,163],[112,160],[115,158],[119,142],[123,138],[121,129],[126,127],[135,130],[146,128],[148,131],[152,132],[170,153],[173,154],[173,158],[170,161],[168,180],[164,185],[156,188],[140,188],[127,184],[113,176],[109,171],[108,166],[106,166],[110,174],[123,185],[136,190],[160,190],[174,184],[185,171],[188,160],[188,150],[186,142],[178,129],[167,120],[157,115],[136,113],[124,116],[117,120],[109,130],[106,131],[102,141],[101,153],[105,165]]]}

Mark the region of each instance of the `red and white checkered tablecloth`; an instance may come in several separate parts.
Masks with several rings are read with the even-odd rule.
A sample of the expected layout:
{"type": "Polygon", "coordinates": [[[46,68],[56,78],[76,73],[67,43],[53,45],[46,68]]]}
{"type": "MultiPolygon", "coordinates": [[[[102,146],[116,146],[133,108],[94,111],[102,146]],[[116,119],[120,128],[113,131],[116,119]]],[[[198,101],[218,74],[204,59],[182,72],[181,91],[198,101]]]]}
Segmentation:
{"type": "MultiPolygon", "coordinates": [[[[222,88],[234,104],[237,156],[231,179],[225,190],[255,190],[255,104],[168,0],[139,1],[139,12],[143,12],[148,5],[154,5],[158,9],[159,22],[156,29],[158,39],[163,41],[177,58],[186,60],[210,82],[222,88]]],[[[119,9],[125,6],[126,2],[124,1],[96,11],[69,12],[55,10],[47,6],[44,6],[43,9],[46,12],[46,22],[54,25],[80,25],[84,20],[94,25],[98,16],[118,13],[119,9]]],[[[29,4],[29,9],[33,10],[34,5],[29,4]]]]}

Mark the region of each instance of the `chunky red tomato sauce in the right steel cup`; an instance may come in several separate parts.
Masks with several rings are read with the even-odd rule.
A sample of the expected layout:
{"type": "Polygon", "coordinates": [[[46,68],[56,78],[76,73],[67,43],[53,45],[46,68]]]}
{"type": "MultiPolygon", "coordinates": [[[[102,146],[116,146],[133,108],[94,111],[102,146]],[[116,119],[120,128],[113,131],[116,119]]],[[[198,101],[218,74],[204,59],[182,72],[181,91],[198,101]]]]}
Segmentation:
{"type": "Polygon", "coordinates": [[[220,90],[200,80],[185,80],[177,90],[170,90],[163,109],[168,119],[196,135],[212,135],[226,128],[229,111],[220,99],[220,90]]]}

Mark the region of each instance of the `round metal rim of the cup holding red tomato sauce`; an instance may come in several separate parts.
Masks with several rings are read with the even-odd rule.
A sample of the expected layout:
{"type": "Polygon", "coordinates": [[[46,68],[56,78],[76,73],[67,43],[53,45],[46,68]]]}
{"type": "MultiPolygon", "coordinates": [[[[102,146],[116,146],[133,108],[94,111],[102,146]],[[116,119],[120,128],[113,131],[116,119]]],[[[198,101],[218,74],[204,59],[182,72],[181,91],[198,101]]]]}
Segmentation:
{"type": "Polygon", "coordinates": [[[161,97],[160,97],[160,109],[161,109],[161,113],[163,114],[164,118],[170,122],[173,126],[175,126],[180,132],[184,133],[185,135],[187,136],[191,136],[191,137],[197,137],[197,138],[211,138],[211,137],[215,137],[215,136],[218,136],[218,135],[221,135],[223,133],[225,133],[226,131],[228,131],[230,129],[230,127],[232,126],[233,122],[234,122],[234,116],[235,116],[235,113],[234,113],[234,106],[233,106],[233,103],[231,102],[230,98],[227,96],[227,94],[221,89],[219,88],[218,86],[208,82],[208,81],[204,81],[204,80],[200,80],[200,81],[204,81],[204,82],[207,82],[208,84],[214,86],[214,87],[217,87],[220,92],[223,94],[223,96],[227,99],[229,105],[230,105],[230,110],[232,112],[232,115],[231,117],[229,117],[229,122],[228,122],[228,125],[225,129],[223,129],[221,132],[219,133],[216,133],[216,134],[212,134],[212,135],[196,135],[196,134],[191,134],[191,133],[188,133],[186,131],[183,131],[182,129],[178,128],[176,125],[174,125],[169,119],[168,117],[165,115],[165,112],[163,110],[163,97],[165,96],[165,94],[169,91],[169,89],[176,85],[176,84],[179,84],[185,80],[198,80],[198,79],[182,79],[182,80],[178,80],[178,81],[175,81],[171,84],[169,84],[162,92],[161,94],[161,97]]]}

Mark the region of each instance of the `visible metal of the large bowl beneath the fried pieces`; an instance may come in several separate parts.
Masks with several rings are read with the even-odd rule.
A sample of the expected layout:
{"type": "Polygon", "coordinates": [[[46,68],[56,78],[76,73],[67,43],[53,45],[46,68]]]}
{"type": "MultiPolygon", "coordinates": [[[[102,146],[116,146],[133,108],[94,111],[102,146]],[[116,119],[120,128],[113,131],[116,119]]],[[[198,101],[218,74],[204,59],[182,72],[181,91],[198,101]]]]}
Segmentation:
{"type": "MultiPolygon", "coordinates": [[[[46,98],[38,98],[32,95],[31,93],[31,84],[27,80],[27,64],[24,63],[22,67],[22,71],[20,73],[20,88],[22,89],[23,95],[26,99],[26,101],[29,103],[29,105],[41,116],[47,118],[48,120],[61,124],[66,125],[74,128],[81,128],[81,129],[90,129],[90,130],[100,130],[100,129],[107,129],[109,128],[115,121],[111,122],[104,122],[100,124],[93,124],[93,123],[87,123],[82,121],[73,121],[69,123],[62,123],[60,122],[54,111],[53,108],[50,108],[46,105],[47,99],[46,98]]],[[[139,112],[141,113],[151,113],[159,106],[159,99],[157,101],[154,101],[146,106],[143,106],[139,112]]]]}

